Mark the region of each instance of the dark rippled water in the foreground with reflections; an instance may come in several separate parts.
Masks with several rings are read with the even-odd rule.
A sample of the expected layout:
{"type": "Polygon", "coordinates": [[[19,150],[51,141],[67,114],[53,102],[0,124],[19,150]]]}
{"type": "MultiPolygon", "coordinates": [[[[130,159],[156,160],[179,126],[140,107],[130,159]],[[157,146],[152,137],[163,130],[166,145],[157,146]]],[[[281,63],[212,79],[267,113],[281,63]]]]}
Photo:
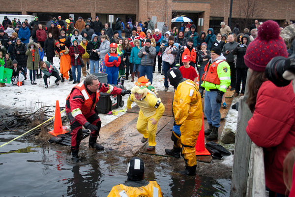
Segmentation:
{"type": "MultiPolygon", "coordinates": [[[[0,133],[0,145],[19,134],[0,133]]],[[[101,152],[99,159],[90,153],[77,165],[70,162],[64,147],[58,147],[40,147],[24,138],[1,147],[0,196],[106,197],[112,186],[126,180],[125,158],[117,157],[113,163],[107,151],[101,152]]],[[[156,165],[145,174],[147,180],[157,181],[165,197],[229,196],[228,179],[184,177],[166,170],[165,165],[156,165]]]]}

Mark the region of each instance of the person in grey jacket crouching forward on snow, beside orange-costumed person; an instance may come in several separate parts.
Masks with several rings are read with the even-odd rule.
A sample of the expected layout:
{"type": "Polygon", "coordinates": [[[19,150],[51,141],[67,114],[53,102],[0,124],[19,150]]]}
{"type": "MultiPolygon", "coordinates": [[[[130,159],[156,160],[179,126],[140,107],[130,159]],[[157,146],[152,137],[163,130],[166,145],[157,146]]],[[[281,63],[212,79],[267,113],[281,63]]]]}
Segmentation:
{"type": "Polygon", "coordinates": [[[40,62],[40,69],[42,70],[42,72],[44,73],[43,79],[44,79],[44,83],[45,83],[45,88],[48,88],[48,84],[47,84],[47,78],[50,76],[54,76],[57,79],[55,80],[55,83],[57,84],[57,86],[59,85],[59,80],[61,80],[60,76],[59,76],[59,71],[58,69],[53,66],[52,64],[50,64],[50,62],[45,61],[45,62],[40,62]]]}

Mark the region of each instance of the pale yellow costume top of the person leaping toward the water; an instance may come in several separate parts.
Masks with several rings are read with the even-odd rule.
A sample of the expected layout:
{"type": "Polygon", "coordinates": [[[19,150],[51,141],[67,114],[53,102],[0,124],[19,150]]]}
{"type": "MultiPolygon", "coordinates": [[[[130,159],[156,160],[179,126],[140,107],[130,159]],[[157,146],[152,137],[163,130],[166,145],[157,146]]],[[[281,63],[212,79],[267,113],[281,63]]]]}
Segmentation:
{"type": "Polygon", "coordinates": [[[155,115],[153,118],[156,121],[162,117],[165,110],[165,106],[161,102],[161,99],[156,98],[156,96],[151,93],[148,93],[146,97],[143,97],[141,100],[135,99],[134,94],[131,94],[127,99],[127,108],[131,108],[132,102],[136,102],[144,116],[150,117],[155,115]]]}

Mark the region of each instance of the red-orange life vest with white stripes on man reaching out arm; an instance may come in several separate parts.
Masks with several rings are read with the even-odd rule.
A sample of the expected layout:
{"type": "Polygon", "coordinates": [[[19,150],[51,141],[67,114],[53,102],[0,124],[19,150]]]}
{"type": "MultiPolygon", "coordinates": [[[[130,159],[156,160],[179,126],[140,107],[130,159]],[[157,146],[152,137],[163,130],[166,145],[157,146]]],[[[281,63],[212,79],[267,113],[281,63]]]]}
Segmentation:
{"type": "Polygon", "coordinates": [[[77,84],[75,87],[73,87],[70,94],[67,96],[66,100],[68,100],[70,98],[70,95],[72,94],[72,92],[75,88],[80,90],[80,92],[82,93],[82,95],[84,97],[84,103],[82,104],[82,107],[81,107],[82,114],[88,114],[91,110],[94,110],[95,103],[99,100],[99,91],[96,92],[95,103],[93,103],[93,100],[91,99],[90,95],[88,94],[88,92],[84,86],[84,83],[81,82],[81,83],[77,84]]]}

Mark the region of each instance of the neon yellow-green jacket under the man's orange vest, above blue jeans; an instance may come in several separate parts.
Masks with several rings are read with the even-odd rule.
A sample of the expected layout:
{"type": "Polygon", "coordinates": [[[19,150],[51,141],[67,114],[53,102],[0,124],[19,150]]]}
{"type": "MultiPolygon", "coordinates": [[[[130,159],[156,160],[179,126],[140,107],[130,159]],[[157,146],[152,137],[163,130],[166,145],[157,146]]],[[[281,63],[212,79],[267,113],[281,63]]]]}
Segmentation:
{"type": "MultiPolygon", "coordinates": [[[[221,56],[216,58],[214,60],[214,62],[217,60],[225,60],[225,59],[226,58],[221,54],[221,56]]],[[[209,64],[211,64],[211,60],[210,60],[209,64]]],[[[219,65],[217,66],[217,75],[220,80],[219,85],[213,84],[213,83],[210,83],[207,81],[203,81],[201,86],[204,87],[206,91],[210,91],[210,89],[218,89],[218,90],[225,93],[226,89],[231,84],[231,68],[226,61],[219,63],[219,65]]]]}

